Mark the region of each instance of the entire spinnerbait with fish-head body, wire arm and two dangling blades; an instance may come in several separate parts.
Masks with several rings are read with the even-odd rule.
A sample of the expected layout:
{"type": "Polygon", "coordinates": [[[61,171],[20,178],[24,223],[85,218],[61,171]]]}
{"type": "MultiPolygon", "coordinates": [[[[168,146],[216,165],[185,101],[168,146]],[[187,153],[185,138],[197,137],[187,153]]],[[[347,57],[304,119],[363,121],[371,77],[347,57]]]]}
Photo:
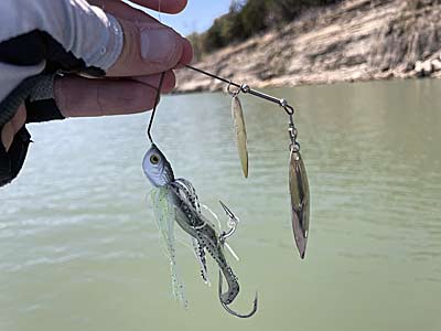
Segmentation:
{"type": "MultiPolygon", "coordinates": [[[[161,12],[161,0],[159,0],[159,12],[161,12]]],[[[159,18],[161,21],[161,18],[159,18]]],[[[310,194],[309,194],[309,184],[305,167],[303,164],[302,158],[300,156],[300,145],[297,141],[297,128],[294,126],[293,115],[294,108],[291,107],[287,100],[278,99],[273,96],[263,94],[261,92],[251,89],[248,85],[243,84],[238,85],[232,81],[227,81],[223,77],[216,76],[208,72],[202,71],[200,68],[185,65],[187,68],[196,71],[201,74],[207,75],[212,78],[222,81],[228,84],[228,92],[230,92],[230,86],[235,86],[238,90],[230,93],[233,96],[232,99],[232,116],[235,126],[235,137],[236,145],[239,152],[240,163],[243,168],[243,172],[245,178],[248,177],[248,150],[247,150],[247,135],[245,128],[245,120],[243,115],[243,109],[240,102],[238,99],[238,94],[250,94],[271,103],[278,104],[280,107],[284,109],[284,111],[289,116],[289,136],[290,136],[290,166],[289,166],[289,188],[291,195],[291,222],[292,228],[294,232],[295,244],[298,246],[301,258],[304,258],[304,253],[306,248],[308,241],[308,231],[309,231],[309,215],[310,215],[310,194]]],[[[198,258],[201,264],[201,275],[203,279],[207,282],[207,273],[206,273],[206,260],[205,260],[205,249],[213,256],[216,263],[219,266],[219,284],[218,284],[218,295],[220,299],[222,306],[232,314],[239,318],[249,318],[257,311],[257,293],[254,300],[252,310],[248,314],[239,314],[232,310],[228,305],[233,302],[236,298],[239,286],[237,282],[236,276],[233,274],[232,268],[228,266],[223,248],[224,246],[228,247],[226,244],[226,239],[234,234],[236,231],[236,226],[238,223],[238,218],[232,213],[232,211],[220,202],[225,212],[229,216],[228,225],[230,229],[227,233],[222,233],[217,235],[214,226],[204,218],[201,213],[200,203],[195,193],[193,185],[184,180],[184,179],[174,179],[173,171],[171,169],[170,163],[166,161],[165,157],[162,152],[155,147],[153,143],[153,139],[151,137],[151,127],[153,124],[153,117],[157,110],[159,95],[162,86],[164,74],[161,75],[155,106],[153,108],[150,122],[148,126],[147,135],[149,137],[150,142],[152,143],[151,148],[146,153],[143,160],[143,170],[148,179],[153,183],[154,186],[160,188],[160,192],[165,192],[166,197],[166,206],[171,206],[171,215],[174,215],[174,220],[180,224],[180,226],[192,236],[193,246],[195,249],[195,255],[198,258]],[[161,164],[160,167],[158,167],[161,164]],[[160,169],[160,171],[158,171],[160,169]],[[165,177],[164,177],[165,174],[165,177]],[[222,291],[222,275],[224,274],[227,282],[228,282],[228,291],[223,293],[222,291]]],[[[161,194],[160,194],[161,195],[161,194]]],[[[158,196],[158,195],[157,195],[158,196]]],[[[163,196],[163,194],[162,194],[163,196]]],[[[159,209],[161,210],[161,209],[159,209]]],[[[165,209],[169,210],[169,209],[165,209]]],[[[161,213],[159,213],[161,214],[161,213]]],[[[162,213],[166,214],[166,213],[162,213]]],[[[168,218],[168,217],[165,217],[168,218]]],[[[170,221],[170,220],[169,220],[170,221]]],[[[173,221],[173,220],[171,220],[173,221]]],[[[160,222],[159,222],[160,223],[160,222]]],[[[169,222],[169,231],[164,231],[166,239],[169,241],[170,252],[174,253],[173,246],[173,236],[170,236],[173,227],[170,226],[169,222]],[[171,231],[170,231],[171,229],[171,231]]],[[[172,274],[175,270],[175,260],[174,255],[171,258],[172,264],[172,274]],[[174,267],[173,267],[174,266],[174,267]]],[[[176,280],[176,279],[174,279],[176,280]]],[[[182,285],[179,281],[174,281],[175,287],[182,288],[182,285]]],[[[182,291],[181,291],[182,293],[182,291]]],[[[176,295],[176,293],[175,293],[176,295]]],[[[184,300],[181,296],[181,300],[184,300]]]]}

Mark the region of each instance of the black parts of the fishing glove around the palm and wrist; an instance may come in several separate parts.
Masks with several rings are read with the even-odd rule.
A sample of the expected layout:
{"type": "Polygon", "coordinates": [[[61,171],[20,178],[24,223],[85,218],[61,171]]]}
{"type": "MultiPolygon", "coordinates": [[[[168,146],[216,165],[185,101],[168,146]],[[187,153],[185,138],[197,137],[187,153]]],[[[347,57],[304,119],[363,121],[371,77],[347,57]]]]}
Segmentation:
{"type": "MultiPolygon", "coordinates": [[[[32,31],[0,43],[0,62],[13,65],[36,65],[46,61],[44,72],[24,79],[0,103],[0,132],[12,119],[20,105],[25,103],[26,122],[64,119],[53,97],[53,79],[57,74],[85,73],[104,76],[97,67],[88,67],[82,58],[75,57],[49,33],[32,31]]],[[[0,186],[10,183],[20,172],[26,157],[31,136],[23,127],[15,136],[7,152],[0,142],[0,186]]]]}

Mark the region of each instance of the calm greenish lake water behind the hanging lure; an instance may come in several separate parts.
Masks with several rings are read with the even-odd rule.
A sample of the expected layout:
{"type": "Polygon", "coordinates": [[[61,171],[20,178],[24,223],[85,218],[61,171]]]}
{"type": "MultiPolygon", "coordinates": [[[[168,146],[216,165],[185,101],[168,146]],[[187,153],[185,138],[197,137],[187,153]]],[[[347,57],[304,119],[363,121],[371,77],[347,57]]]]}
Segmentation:
{"type": "MultiPolygon", "coordinates": [[[[148,115],[32,125],[25,167],[0,190],[1,331],[441,330],[441,81],[267,89],[292,103],[311,190],[306,257],[293,245],[287,116],[243,97],[245,180],[223,94],[164,97],[158,146],[223,220],[241,291],[227,314],[178,261],[190,308],[173,300],[141,170],[148,115]]],[[[182,238],[186,239],[185,236],[182,238]]]]}

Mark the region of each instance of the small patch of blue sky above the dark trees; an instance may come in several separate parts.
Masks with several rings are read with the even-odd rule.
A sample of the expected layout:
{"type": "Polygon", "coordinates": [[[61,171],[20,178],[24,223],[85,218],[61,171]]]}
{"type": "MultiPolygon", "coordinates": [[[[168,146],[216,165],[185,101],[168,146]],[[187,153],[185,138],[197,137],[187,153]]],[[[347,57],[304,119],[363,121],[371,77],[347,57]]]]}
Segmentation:
{"type": "MultiPolygon", "coordinates": [[[[1,1],[1,0],[0,0],[1,1]]],[[[214,19],[227,13],[232,0],[189,0],[184,11],[170,15],[161,13],[161,22],[172,26],[182,35],[207,30],[214,19]]],[[[158,19],[158,13],[148,11],[158,19]]]]}

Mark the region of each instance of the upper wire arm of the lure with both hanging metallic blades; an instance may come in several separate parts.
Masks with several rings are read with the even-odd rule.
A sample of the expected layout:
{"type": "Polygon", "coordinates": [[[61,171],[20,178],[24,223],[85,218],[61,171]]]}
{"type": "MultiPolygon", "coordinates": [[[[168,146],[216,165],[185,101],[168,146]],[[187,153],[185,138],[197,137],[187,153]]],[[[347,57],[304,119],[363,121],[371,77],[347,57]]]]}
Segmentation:
{"type": "MultiPolygon", "coordinates": [[[[306,249],[306,242],[308,242],[308,234],[309,234],[309,225],[310,225],[310,190],[309,190],[309,183],[308,183],[308,175],[306,175],[306,169],[304,167],[302,157],[300,154],[300,143],[297,140],[298,131],[294,125],[294,108],[288,104],[286,99],[279,99],[276,98],[271,95],[261,93],[259,90],[250,88],[246,84],[237,84],[232,81],[228,81],[226,78],[219,77],[215,74],[205,72],[201,68],[191,66],[191,65],[185,65],[187,68],[195,71],[200,74],[206,75],[208,77],[212,77],[214,79],[218,79],[220,82],[224,82],[225,84],[228,84],[228,92],[230,89],[230,86],[237,87],[237,92],[233,94],[233,106],[232,108],[235,108],[235,111],[237,110],[237,122],[240,122],[240,119],[243,120],[244,117],[241,115],[241,106],[239,100],[237,99],[237,95],[239,92],[244,94],[250,94],[252,96],[257,96],[259,98],[266,99],[268,102],[275,103],[279,105],[284,113],[289,117],[289,125],[288,125],[288,132],[289,132],[289,138],[290,138],[290,162],[289,162],[289,192],[290,192],[290,197],[291,197],[291,223],[292,223],[292,231],[294,234],[294,241],[295,245],[299,249],[299,254],[301,258],[304,258],[305,249],[306,249]],[[236,104],[234,104],[236,103],[236,104]]],[[[235,118],[235,116],[233,116],[235,118]]],[[[236,121],[235,121],[236,126],[236,121]]],[[[246,169],[248,169],[248,154],[245,156],[246,149],[246,131],[245,131],[245,122],[241,122],[238,125],[239,130],[244,130],[244,134],[241,137],[241,140],[237,139],[237,146],[239,150],[239,157],[240,161],[244,168],[244,163],[246,162],[246,169]],[[244,139],[245,137],[245,139],[244,139]],[[245,141],[245,145],[244,145],[245,141]]],[[[237,129],[236,129],[237,132],[237,129]]],[[[239,135],[236,134],[236,137],[239,135]]],[[[248,173],[245,172],[244,174],[248,173]]],[[[247,175],[245,175],[247,177],[247,175]]]]}

